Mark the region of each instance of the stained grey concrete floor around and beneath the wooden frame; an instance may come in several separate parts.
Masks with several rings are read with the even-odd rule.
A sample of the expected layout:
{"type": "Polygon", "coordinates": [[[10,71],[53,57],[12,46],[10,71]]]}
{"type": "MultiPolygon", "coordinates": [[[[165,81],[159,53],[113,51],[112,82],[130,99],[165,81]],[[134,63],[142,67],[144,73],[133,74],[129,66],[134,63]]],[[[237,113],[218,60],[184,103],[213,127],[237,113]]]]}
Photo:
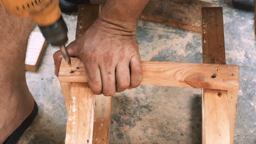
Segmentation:
{"type": "MultiPolygon", "coordinates": [[[[256,45],[253,13],[223,7],[226,61],[240,65],[235,143],[256,143],[256,45]]],[[[64,15],[69,43],[76,15],[64,15]]],[[[139,20],[139,50],[143,61],[202,62],[201,34],[139,20]]],[[[63,143],[66,109],[54,75],[48,46],[37,73],[27,71],[27,83],[39,114],[19,143],[63,143]]],[[[201,143],[201,89],[140,86],[114,97],[110,143],[201,143]]]]}

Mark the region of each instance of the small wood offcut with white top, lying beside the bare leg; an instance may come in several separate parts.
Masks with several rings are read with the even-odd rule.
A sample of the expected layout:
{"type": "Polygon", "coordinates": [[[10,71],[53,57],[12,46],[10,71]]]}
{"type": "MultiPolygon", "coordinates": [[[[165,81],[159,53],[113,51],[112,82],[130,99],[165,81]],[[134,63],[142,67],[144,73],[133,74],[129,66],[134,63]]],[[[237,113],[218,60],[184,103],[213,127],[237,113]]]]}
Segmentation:
{"type": "Polygon", "coordinates": [[[46,47],[46,40],[42,33],[32,32],[28,38],[27,52],[25,59],[25,69],[30,71],[37,71],[38,65],[41,62],[44,49],[46,47]]]}

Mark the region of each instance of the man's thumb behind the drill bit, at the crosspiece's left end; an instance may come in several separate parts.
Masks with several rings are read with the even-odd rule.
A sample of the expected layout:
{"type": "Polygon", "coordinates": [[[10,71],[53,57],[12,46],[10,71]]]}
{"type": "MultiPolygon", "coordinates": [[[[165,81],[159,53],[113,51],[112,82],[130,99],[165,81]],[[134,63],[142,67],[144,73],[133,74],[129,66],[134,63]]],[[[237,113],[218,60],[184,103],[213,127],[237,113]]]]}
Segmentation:
{"type": "MultiPolygon", "coordinates": [[[[69,57],[78,57],[78,45],[77,45],[77,41],[73,41],[72,43],[70,43],[67,47],[67,53],[69,55],[69,57]]],[[[61,51],[56,51],[53,55],[54,58],[54,65],[55,65],[55,75],[58,76],[59,75],[59,71],[60,71],[60,65],[61,65],[61,59],[63,58],[61,51]]]]}

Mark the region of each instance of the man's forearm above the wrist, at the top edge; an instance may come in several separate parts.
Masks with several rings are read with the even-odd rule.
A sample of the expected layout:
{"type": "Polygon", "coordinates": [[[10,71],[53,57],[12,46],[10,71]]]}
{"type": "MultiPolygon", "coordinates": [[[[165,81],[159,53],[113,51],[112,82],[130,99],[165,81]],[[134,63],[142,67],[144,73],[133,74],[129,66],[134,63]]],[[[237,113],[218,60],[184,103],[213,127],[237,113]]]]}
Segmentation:
{"type": "Polygon", "coordinates": [[[107,0],[100,20],[113,23],[120,30],[135,31],[136,23],[149,0],[107,0]]]}

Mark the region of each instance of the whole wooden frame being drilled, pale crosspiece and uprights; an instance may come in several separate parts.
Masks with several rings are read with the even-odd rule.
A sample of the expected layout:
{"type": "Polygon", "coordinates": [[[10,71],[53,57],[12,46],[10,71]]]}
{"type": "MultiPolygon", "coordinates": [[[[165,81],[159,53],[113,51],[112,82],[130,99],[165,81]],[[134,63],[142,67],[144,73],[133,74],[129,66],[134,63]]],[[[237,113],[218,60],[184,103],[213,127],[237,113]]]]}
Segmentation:
{"type": "MultiPolygon", "coordinates": [[[[77,37],[99,14],[99,4],[79,6],[77,37]]],[[[202,49],[203,64],[141,62],[141,85],[203,88],[202,143],[233,143],[239,68],[225,65],[222,8],[202,8],[202,49]]],[[[92,93],[78,58],[71,67],[62,61],[59,80],[68,115],[65,142],[108,143],[112,97],[92,93]]]]}

